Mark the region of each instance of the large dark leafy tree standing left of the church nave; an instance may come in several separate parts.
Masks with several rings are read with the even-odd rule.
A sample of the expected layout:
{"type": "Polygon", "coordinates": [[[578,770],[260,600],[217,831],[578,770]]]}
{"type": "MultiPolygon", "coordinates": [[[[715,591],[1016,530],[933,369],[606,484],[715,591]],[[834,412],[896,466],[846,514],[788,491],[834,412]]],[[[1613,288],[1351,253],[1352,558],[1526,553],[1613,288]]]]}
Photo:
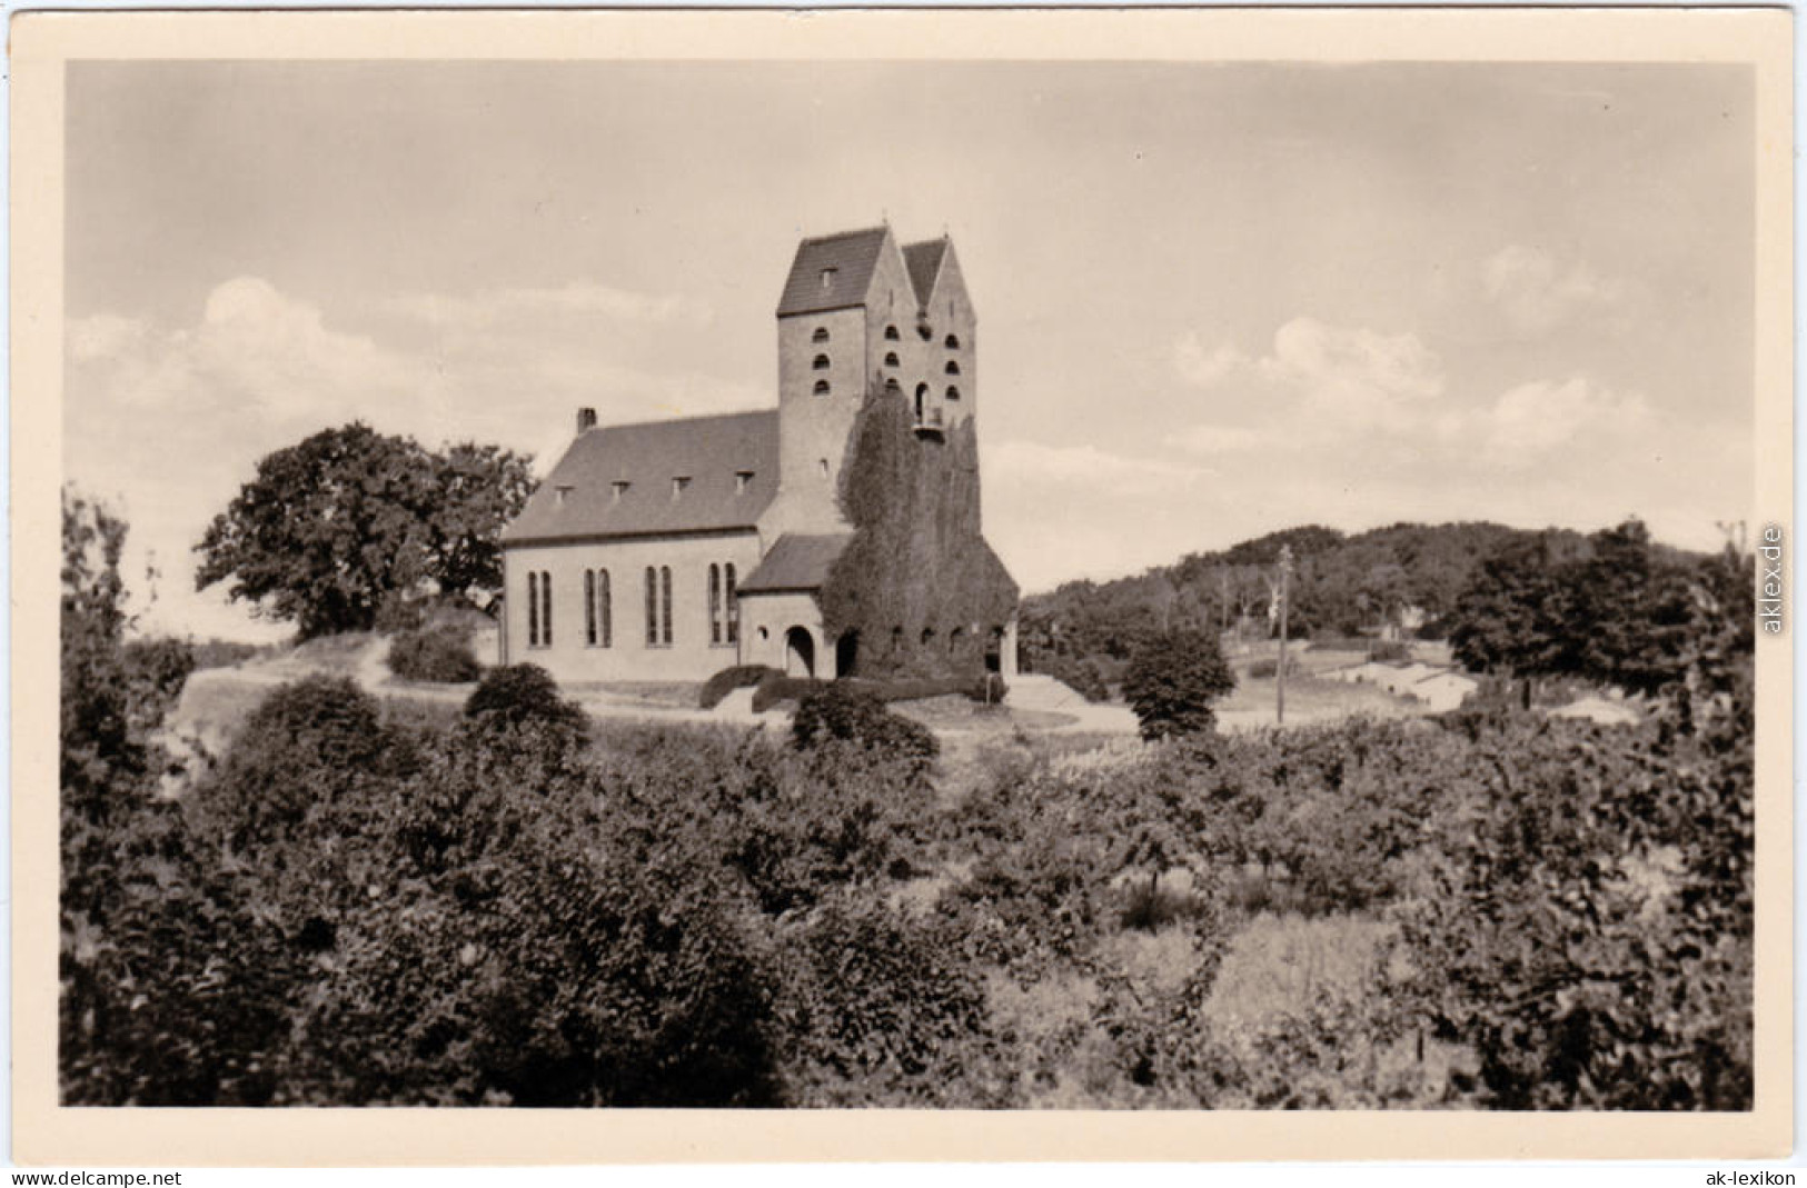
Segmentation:
{"type": "Polygon", "coordinates": [[[257,464],[195,545],[195,589],[229,580],[235,601],[314,637],[367,630],[387,598],[430,585],[497,587],[528,462],[470,442],[434,453],[361,422],[323,430],[257,464]]]}

